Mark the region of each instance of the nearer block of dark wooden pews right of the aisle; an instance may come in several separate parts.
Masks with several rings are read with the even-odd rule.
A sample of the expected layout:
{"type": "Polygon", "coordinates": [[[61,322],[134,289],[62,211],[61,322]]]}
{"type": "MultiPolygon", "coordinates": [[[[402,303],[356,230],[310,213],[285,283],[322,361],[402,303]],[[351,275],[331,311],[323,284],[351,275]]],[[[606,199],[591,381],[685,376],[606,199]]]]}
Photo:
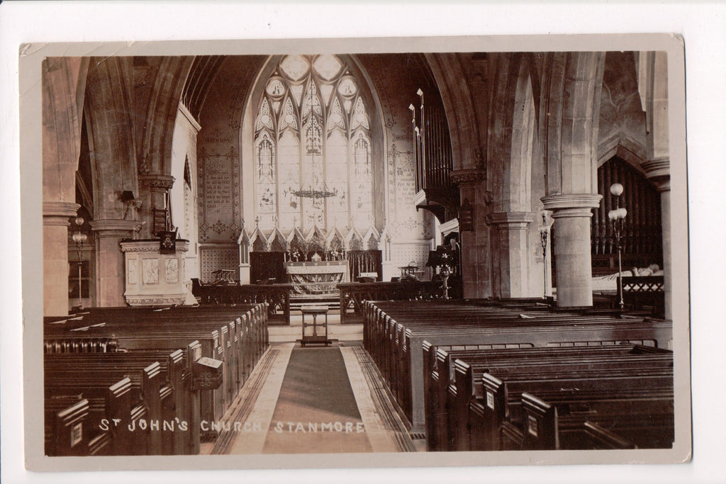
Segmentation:
{"type": "Polygon", "coordinates": [[[424,345],[432,451],[667,448],[673,355],[641,345],[424,345]]]}

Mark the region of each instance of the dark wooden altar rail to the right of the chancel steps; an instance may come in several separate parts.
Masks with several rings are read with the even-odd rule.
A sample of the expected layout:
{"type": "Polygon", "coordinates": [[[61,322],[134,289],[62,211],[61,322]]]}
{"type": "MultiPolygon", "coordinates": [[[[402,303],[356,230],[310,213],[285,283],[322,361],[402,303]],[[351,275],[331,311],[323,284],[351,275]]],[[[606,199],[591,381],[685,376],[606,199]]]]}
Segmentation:
{"type": "Polygon", "coordinates": [[[340,292],[340,324],[361,322],[355,316],[363,315],[363,303],[367,300],[431,300],[444,297],[441,281],[402,282],[348,282],[338,284],[340,292]],[[347,321],[346,321],[347,319],[347,321]]]}

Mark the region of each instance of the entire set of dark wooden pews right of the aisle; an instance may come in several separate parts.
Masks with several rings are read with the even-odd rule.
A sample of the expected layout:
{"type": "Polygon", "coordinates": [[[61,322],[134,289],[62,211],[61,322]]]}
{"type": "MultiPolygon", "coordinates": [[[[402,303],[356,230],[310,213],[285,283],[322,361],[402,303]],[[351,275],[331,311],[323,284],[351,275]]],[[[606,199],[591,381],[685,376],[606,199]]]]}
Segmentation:
{"type": "MultiPolygon", "coordinates": [[[[672,352],[667,348],[671,344],[671,321],[592,308],[562,311],[537,300],[370,301],[364,309],[364,347],[408,417],[411,432],[426,435],[431,450],[589,446],[590,443],[582,444],[582,438],[563,438],[556,432],[552,437],[552,432],[544,429],[558,423],[555,427],[562,430],[567,421],[563,417],[570,418],[573,412],[569,409],[576,408],[573,402],[578,398],[583,398],[578,408],[586,409],[591,404],[597,407],[584,401],[584,389],[588,388],[592,401],[606,400],[609,391],[613,401],[629,401],[623,405],[647,410],[649,407],[643,402],[650,401],[650,396],[636,398],[637,395],[627,393],[633,385],[638,388],[641,382],[653,384],[646,387],[652,387],[657,396],[657,403],[653,405],[658,412],[657,417],[651,412],[650,422],[664,428],[662,434],[648,434],[643,430],[641,434],[646,441],[626,444],[627,438],[608,430],[616,427],[614,424],[603,428],[590,420],[572,423],[576,428],[571,433],[582,435],[587,423],[584,429],[593,435],[590,442],[599,439],[602,446],[606,445],[605,440],[613,446],[670,446],[673,369],[672,352]],[[645,361],[632,366],[621,364],[625,367],[616,373],[608,365],[618,365],[611,359],[616,358],[613,355],[618,351],[624,351],[623,343],[629,343],[627,348],[645,361]],[[600,356],[592,356],[603,360],[602,368],[590,366],[588,351],[603,351],[595,353],[600,356]],[[529,356],[534,358],[534,363],[528,366],[525,361],[529,356]],[[507,367],[504,375],[502,369],[489,373],[488,365],[496,358],[514,362],[515,366],[507,367]],[[546,358],[553,362],[550,367],[544,363],[546,358]],[[571,358],[562,372],[559,372],[562,361],[558,358],[571,358]],[[653,373],[647,374],[652,378],[648,380],[640,374],[638,365],[655,364],[657,358],[667,362],[659,361],[663,367],[648,369],[653,373]],[[550,374],[546,373],[547,369],[551,370],[550,374]],[[507,387],[510,382],[504,376],[518,378],[516,385],[530,385],[531,390],[517,386],[517,391],[510,392],[507,387]],[[565,393],[553,396],[546,385],[538,387],[528,379],[547,382],[552,385],[550,390],[578,390],[570,392],[568,401],[565,393]],[[489,390],[484,385],[489,385],[489,390]],[[505,395],[506,398],[502,397],[505,403],[497,401],[501,395],[505,395]],[[555,417],[558,399],[567,402],[560,406],[559,420],[555,417]],[[492,406],[498,412],[497,420],[489,413],[492,406]],[[509,419],[510,415],[513,419],[509,419]],[[670,423],[661,425],[661,417],[670,423]],[[522,422],[529,427],[523,427],[522,422]],[[534,434],[547,435],[547,438],[533,439],[534,434]]],[[[637,412],[630,411],[628,415],[637,416],[637,412]]],[[[626,422],[625,417],[619,422],[626,422]]],[[[631,424],[626,427],[637,428],[631,424]]]]}

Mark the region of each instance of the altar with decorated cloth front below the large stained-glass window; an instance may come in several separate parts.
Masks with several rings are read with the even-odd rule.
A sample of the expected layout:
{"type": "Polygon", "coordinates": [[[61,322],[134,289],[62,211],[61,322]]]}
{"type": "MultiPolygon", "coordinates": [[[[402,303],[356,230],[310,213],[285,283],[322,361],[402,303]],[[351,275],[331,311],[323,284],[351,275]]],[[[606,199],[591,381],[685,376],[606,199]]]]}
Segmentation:
{"type": "Polygon", "coordinates": [[[286,262],[285,271],[293,293],[314,296],[338,296],[338,284],[350,282],[348,261],[286,262]]]}

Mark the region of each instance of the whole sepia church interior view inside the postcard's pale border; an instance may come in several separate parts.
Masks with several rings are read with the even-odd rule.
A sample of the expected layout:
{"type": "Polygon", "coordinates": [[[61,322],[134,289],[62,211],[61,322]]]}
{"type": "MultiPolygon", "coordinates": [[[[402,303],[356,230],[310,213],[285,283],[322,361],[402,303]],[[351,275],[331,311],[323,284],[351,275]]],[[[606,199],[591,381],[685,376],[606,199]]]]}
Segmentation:
{"type": "Polygon", "coordinates": [[[665,52],[49,57],[49,456],[671,448],[665,52]]]}

